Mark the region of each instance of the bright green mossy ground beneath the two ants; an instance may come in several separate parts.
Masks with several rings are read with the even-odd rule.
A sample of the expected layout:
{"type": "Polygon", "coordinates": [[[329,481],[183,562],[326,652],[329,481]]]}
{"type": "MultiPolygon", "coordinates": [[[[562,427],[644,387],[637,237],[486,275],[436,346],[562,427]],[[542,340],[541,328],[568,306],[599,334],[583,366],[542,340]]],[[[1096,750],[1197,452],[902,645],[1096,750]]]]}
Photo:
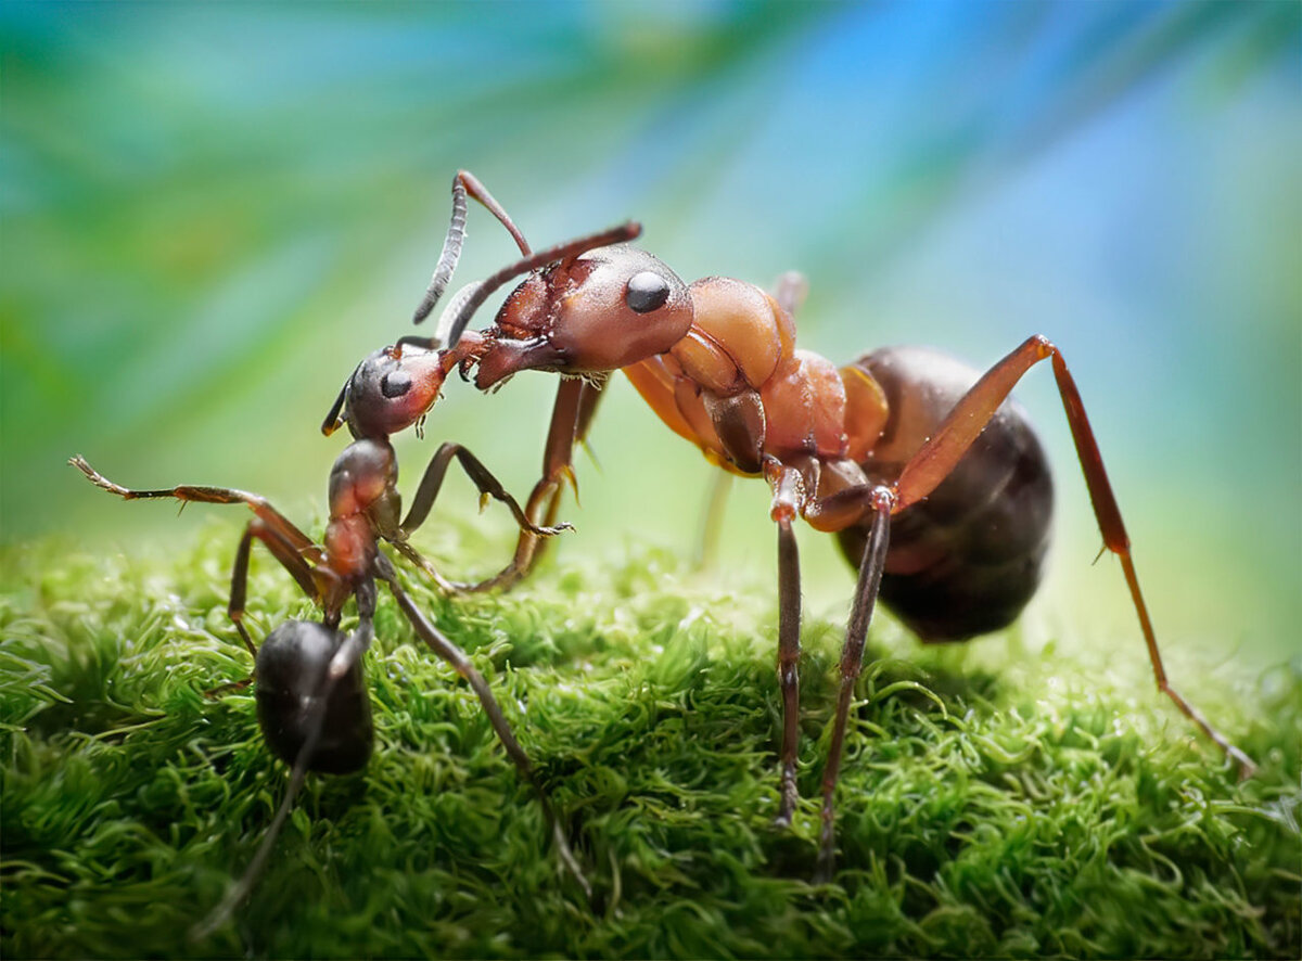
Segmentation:
{"type": "MultiPolygon", "coordinates": [[[[189,941],[286,783],[253,698],[202,695],[250,669],[225,616],[232,530],[168,563],[52,543],[5,556],[4,957],[1302,953],[1295,667],[1170,658],[1262,762],[1240,784],[1139,660],[1030,651],[1016,629],[927,648],[879,619],[838,872],[814,887],[841,625],[806,617],[805,801],[777,831],[772,591],[637,548],[562,556],[503,596],[447,600],[411,579],[538,764],[595,906],[560,874],[474,695],[383,598],[375,757],[310,777],[253,897],[189,941]]],[[[444,556],[488,556],[470,529],[443,536],[444,556]]],[[[255,635],[311,616],[255,564],[255,635]]]]}

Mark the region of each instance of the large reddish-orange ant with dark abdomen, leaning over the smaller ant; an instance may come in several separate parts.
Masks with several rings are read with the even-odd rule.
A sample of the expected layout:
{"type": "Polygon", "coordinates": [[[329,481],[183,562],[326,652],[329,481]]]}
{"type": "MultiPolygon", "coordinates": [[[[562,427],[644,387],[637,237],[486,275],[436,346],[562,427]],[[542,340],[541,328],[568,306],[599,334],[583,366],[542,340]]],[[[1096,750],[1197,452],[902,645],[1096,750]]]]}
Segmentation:
{"type": "MultiPolygon", "coordinates": [[[[460,241],[457,184],[445,250],[460,241]]],[[[473,178],[471,178],[473,180],[473,178]]],[[[482,188],[480,188],[482,190],[482,188]]],[[[486,193],[486,191],[484,191],[486,193]]],[[[477,199],[482,199],[477,195],[477,199]]],[[[465,197],[460,198],[465,224],[465,197]]],[[[495,214],[496,202],[486,203],[495,214]]],[[[499,219],[503,217],[499,215],[499,219]]],[[[543,475],[526,504],[531,521],[555,518],[573,451],[591,425],[602,389],[622,370],[651,409],[706,460],[733,475],[763,477],[777,525],[777,675],[783,697],[776,823],[798,800],[801,586],[793,523],[836,534],[858,569],[840,660],[840,691],[823,772],[816,879],[835,866],[833,794],[865,638],[878,598],[923,642],[966,641],[1012,624],[1039,583],[1048,548],[1052,482],[1047,458],[1009,393],[1049,361],[1104,548],[1121,560],[1159,691],[1232,759],[1242,777],[1253,760],[1167,680],[1121,520],[1085,405],[1062,353],[1035,335],[984,374],[931,349],[874,350],[837,369],[796,348],[799,275],[771,294],[730,277],[685,284],[651,254],[626,246],[626,224],[526,257],[448,305],[431,339],[404,342],[456,354],[462,378],[482,391],[526,370],[560,374],[543,475]],[[613,246],[603,246],[613,245],[613,246]],[[493,324],[466,328],[488,296],[527,275],[493,324]]],[[[434,290],[431,284],[431,292],[434,290]]],[[[421,323],[430,297],[417,309],[421,323]]],[[[401,349],[401,344],[400,344],[401,349]]],[[[521,530],[510,565],[475,587],[508,586],[536,560],[539,538],[521,530]]]]}

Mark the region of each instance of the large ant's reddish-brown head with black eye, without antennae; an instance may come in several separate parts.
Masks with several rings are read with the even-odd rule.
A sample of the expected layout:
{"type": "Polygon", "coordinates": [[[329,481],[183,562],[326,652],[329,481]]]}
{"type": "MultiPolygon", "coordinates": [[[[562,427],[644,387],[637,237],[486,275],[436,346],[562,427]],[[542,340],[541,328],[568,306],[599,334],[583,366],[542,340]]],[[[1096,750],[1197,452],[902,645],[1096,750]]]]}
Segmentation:
{"type": "Polygon", "coordinates": [[[598,374],[664,353],[691,327],[686,285],[659,259],[600,247],[531,273],[503,303],[475,385],[522,370],[598,374]]]}

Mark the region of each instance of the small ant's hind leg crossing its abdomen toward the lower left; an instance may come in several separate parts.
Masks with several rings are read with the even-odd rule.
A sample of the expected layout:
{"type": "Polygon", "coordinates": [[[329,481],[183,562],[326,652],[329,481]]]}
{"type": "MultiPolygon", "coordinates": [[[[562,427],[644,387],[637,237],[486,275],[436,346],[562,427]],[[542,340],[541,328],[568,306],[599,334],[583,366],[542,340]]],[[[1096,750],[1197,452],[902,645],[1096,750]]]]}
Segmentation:
{"type": "Polygon", "coordinates": [[[212,909],[212,913],[210,913],[207,918],[190,930],[189,936],[191,941],[201,940],[221,927],[230,918],[236,906],[238,906],[238,904],[249,896],[249,892],[253,891],[254,883],[262,875],[262,869],[267,863],[267,858],[271,856],[271,849],[276,843],[276,837],[280,836],[280,829],[285,824],[285,818],[289,816],[294,798],[298,797],[298,792],[302,789],[303,781],[307,779],[307,764],[312,754],[316,751],[316,745],[320,742],[322,733],[326,729],[326,710],[331,693],[339,680],[352,671],[353,665],[361,660],[366,648],[371,646],[371,641],[375,637],[375,596],[376,592],[374,579],[367,578],[358,585],[357,630],[349,634],[339,646],[339,650],[335,651],[335,656],[331,658],[331,662],[322,676],[318,697],[307,708],[312,714],[307,723],[307,737],[303,738],[303,745],[298,749],[298,757],[294,758],[294,766],[289,775],[289,787],[285,789],[285,797],[281,800],[280,807],[276,809],[276,816],[271,819],[271,824],[267,827],[267,833],[262,839],[262,844],[258,845],[258,852],[253,856],[253,861],[249,862],[249,867],[245,869],[243,875],[236,885],[227,892],[227,896],[221,898],[221,902],[212,909]]]}

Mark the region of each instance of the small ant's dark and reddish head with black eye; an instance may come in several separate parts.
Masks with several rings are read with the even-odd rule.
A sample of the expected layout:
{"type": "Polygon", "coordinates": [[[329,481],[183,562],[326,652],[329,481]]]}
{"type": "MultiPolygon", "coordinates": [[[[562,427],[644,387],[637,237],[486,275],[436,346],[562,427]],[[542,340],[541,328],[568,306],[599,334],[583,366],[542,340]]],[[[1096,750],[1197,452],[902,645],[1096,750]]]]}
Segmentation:
{"type": "Polygon", "coordinates": [[[346,421],[357,439],[397,434],[434,406],[447,375],[441,352],[411,345],[376,350],[357,365],[322,432],[333,434],[346,421]]]}

